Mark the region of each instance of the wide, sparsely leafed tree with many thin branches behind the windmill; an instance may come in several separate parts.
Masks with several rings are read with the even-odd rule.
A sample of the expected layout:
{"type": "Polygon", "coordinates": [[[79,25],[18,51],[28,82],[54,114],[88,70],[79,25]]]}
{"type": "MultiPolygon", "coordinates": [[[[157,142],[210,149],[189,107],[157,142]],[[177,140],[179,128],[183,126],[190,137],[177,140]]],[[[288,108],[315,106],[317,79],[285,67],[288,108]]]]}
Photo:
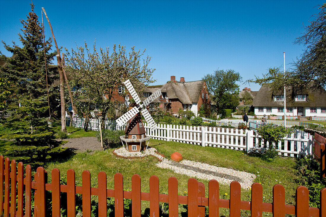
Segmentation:
{"type": "MultiPolygon", "coordinates": [[[[84,88],[81,100],[90,100],[102,112],[102,128],[104,120],[111,108],[119,108],[120,103],[115,99],[114,93],[119,87],[124,87],[124,81],[129,79],[134,88],[142,92],[145,83],[154,82],[152,74],[155,69],[148,67],[151,57],[143,59],[145,51],[135,51],[132,47],[127,53],[124,46],[113,45],[112,51],[107,47],[93,51],[87,47],[77,47],[76,50],[67,51],[66,71],[69,72],[75,84],[84,88]]],[[[72,85],[73,86],[73,85],[72,85]]],[[[126,95],[127,91],[121,93],[126,95]]]]}

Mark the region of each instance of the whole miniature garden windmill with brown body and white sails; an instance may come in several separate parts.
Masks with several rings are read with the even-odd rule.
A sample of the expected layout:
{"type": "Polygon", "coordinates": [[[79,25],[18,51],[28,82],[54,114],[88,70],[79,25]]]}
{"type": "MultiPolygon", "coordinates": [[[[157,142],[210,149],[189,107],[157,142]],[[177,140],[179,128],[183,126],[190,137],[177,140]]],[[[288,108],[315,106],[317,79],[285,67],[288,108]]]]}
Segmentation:
{"type": "Polygon", "coordinates": [[[141,121],[140,112],[142,116],[145,118],[151,130],[155,130],[157,128],[157,124],[153,120],[152,116],[149,114],[146,106],[148,106],[151,102],[153,102],[162,93],[161,90],[157,90],[155,93],[150,95],[147,99],[145,99],[141,104],[141,99],[137,95],[136,90],[132,86],[130,81],[126,80],[124,84],[126,85],[132,98],[135,100],[135,106],[116,120],[116,122],[120,126],[127,123],[126,130],[125,130],[126,135],[120,136],[120,139],[122,141],[123,146],[125,146],[124,143],[126,144],[125,148],[129,152],[144,151],[147,148],[147,146],[145,147],[146,141],[149,140],[150,137],[147,137],[145,135],[146,132],[145,132],[144,124],[141,121]]]}

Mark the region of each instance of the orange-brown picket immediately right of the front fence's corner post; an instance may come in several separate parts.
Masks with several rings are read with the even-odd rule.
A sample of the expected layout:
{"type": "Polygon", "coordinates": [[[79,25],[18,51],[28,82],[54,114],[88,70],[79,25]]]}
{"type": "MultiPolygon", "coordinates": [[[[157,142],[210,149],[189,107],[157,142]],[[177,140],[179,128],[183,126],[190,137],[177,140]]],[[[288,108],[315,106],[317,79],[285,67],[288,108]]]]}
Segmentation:
{"type": "Polygon", "coordinates": [[[61,215],[61,186],[60,186],[60,171],[57,168],[51,171],[51,187],[52,187],[52,216],[61,215]]]}

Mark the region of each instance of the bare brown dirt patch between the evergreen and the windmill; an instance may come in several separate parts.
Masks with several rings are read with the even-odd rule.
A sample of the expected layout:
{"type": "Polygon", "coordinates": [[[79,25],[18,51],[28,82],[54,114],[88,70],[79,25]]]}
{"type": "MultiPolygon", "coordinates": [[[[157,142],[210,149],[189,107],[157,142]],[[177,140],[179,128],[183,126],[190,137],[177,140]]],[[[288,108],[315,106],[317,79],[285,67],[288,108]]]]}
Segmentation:
{"type": "Polygon", "coordinates": [[[80,138],[69,138],[63,139],[68,141],[63,147],[68,147],[72,151],[86,152],[89,150],[102,150],[101,143],[97,141],[96,137],[80,137],[80,138]]]}

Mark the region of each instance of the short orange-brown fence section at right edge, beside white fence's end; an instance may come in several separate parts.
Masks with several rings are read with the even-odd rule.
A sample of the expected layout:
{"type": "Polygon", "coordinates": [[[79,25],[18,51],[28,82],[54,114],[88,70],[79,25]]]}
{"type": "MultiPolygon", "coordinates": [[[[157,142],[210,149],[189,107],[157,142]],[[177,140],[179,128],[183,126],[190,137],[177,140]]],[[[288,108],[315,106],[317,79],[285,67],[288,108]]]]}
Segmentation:
{"type": "Polygon", "coordinates": [[[320,164],[320,176],[325,178],[326,175],[326,138],[315,133],[315,141],[314,141],[314,154],[317,157],[320,164]]]}

